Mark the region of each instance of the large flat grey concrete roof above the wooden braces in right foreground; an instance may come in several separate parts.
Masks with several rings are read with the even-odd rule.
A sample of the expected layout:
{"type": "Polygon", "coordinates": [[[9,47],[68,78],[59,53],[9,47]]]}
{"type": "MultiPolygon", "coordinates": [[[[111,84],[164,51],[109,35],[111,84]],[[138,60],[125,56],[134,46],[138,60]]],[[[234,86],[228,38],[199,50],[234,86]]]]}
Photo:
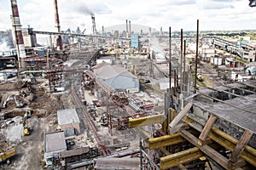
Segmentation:
{"type": "Polygon", "coordinates": [[[256,133],[256,94],[254,87],[256,87],[255,81],[251,81],[246,83],[229,84],[229,88],[223,86],[214,88],[217,91],[209,88],[202,89],[200,90],[201,93],[193,98],[192,103],[213,115],[235,124],[238,127],[248,129],[253,131],[253,133],[256,133]],[[247,95],[239,94],[238,91],[242,92],[242,88],[251,91],[251,93],[248,93],[247,95]],[[232,94],[234,93],[226,94],[223,92],[230,92],[228,89],[236,89],[239,97],[233,96],[232,94]],[[224,94],[230,95],[232,96],[232,99],[224,99],[223,102],[211,102],[208,100],[211,99],[211,93],[218,93],[220,96],[224,96],[224,94]],[[209,97],[201,94],[207,94],[209,97]]]}

